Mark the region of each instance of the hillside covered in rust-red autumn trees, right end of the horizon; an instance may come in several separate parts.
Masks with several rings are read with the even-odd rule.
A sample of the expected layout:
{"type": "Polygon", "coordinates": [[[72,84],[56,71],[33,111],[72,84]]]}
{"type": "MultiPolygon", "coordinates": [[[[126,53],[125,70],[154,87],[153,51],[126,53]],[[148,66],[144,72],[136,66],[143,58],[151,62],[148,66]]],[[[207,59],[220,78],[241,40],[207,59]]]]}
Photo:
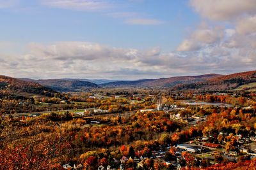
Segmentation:
{"type": "Polygon", "coordinates": [[[256,82],[256,71],[246,71],[242,73],[229,74],[209,78],[207,81],[197,83],[180,84],[173,87],[173,90],[234,90],[242,85],[256,82]]]}

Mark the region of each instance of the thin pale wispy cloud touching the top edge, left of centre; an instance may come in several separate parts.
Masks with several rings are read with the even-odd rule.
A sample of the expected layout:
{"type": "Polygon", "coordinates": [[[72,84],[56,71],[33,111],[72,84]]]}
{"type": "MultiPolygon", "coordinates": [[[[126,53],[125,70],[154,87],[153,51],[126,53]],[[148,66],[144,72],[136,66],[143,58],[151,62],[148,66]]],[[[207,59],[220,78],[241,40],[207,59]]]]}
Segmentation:
{"type": "Polygon", "coordinates": [[[109,1],[104,0],[41,0],[41,2],[53,8],[81,11],[99,11],[113,6],[109,1]]]}

